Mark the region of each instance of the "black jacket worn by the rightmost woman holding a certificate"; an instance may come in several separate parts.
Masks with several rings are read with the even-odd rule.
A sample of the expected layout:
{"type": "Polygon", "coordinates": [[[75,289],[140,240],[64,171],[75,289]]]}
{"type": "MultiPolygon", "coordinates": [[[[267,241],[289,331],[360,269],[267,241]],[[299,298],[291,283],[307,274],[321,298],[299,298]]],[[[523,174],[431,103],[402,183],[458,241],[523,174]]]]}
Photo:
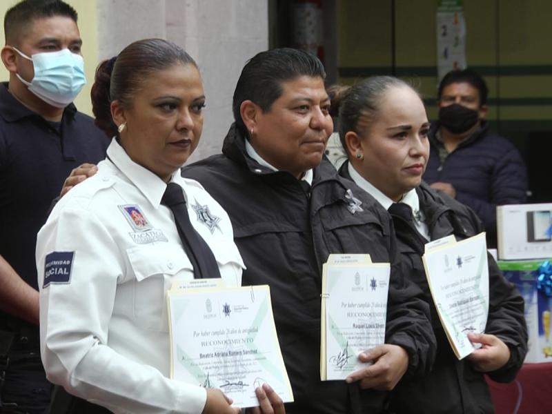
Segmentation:
{"type": "MultiPolygon", "coordinates": [[[[347,164],[339,172],[344,177],[351,178],[347,164]]],[[[473,210],[449,195],[433,190],[423,181],[416,192],[420,197],[420,208],[426,217],[432,240],[448,235],[455,235],[457,240],[462,240],[483,231],[482,223],[473,210]]],[[[437,357],[433,370],[422,380],[403,380],[395,387],[391,403],[393,411],[397,414],[494,413],[484,375],[475,371],[467,359],[459,361],[455,357],[440,323],[422,263],[426,239],[401,217],[393,216],[393,221],[405,275],[424,290],[426,301],[431,306],[431,323],[437,338],[437,357]]],[[[512,381],[527,353],[524,302],[517,288],[504,279],[491,255],[489,316],[485,333],[502,339],[511,352],[510,360],[505,366],[487,374],[497,382],[512,381]]]]}

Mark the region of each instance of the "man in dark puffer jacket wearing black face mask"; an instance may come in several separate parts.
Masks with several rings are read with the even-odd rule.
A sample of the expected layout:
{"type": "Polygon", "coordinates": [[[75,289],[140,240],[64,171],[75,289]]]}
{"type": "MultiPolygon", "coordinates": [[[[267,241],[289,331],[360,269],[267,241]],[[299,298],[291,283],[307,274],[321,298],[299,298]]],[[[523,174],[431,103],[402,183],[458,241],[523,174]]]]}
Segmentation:
{"type": "Polygon", "coordinates": [[[510,141],[484,121],[489,90],[471,70],[453,70],[440,83],[439,120],[428,134],[431,151],[424,180],[475,210],[495,248],[496,206],[526,201],[524,162],[510,141]]]}

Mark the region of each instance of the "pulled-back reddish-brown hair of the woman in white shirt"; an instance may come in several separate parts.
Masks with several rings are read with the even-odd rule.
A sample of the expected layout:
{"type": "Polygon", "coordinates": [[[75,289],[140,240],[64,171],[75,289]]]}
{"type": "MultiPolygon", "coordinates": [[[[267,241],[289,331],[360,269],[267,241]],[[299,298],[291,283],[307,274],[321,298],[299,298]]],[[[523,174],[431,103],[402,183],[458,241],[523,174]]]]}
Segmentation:
{"type": "Polygon", "coordinates": [[[180,65],[197,63],[180,46],[164,39],[144,39],[130,43],[117,57],[99,64],[96,69],[92,97],[94,124],[108,138],[118,134],[111,117],[111,102],[118,101],[124,108],[131,108],[142,83],[152,73],[180,65]]]}

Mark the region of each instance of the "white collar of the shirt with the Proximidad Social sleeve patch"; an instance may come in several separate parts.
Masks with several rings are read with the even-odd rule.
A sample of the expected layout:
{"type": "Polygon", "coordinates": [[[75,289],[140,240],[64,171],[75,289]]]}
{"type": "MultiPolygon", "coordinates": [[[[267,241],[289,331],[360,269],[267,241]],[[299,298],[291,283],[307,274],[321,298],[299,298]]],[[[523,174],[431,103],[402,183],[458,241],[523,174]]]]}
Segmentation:
{"type": "MultiPolygon", "coordinates": [[[[132,161],[117,139],[113,138],[111,140],[107,153],[108,159],[112,164],[115,164],[119,171],[121,171],[126,178],[144,194],[144,197],[150,201],[152,206],[159,208],[167,184],[147,168],[132,161]]],[[[180,170],[176,170],[172,173],[170,182],[181,186],[186,196],[186,184],[181,177],[180,170]]]]}

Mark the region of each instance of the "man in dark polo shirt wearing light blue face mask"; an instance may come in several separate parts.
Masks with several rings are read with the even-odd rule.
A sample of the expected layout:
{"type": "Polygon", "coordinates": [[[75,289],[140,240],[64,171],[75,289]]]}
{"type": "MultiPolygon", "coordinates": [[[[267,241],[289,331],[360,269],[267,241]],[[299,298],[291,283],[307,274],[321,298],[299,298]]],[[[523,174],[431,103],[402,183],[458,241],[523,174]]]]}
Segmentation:
{"type": "MultiPolygon", "coordinates": [[[[0,412],[43,413],[50,399],[39,355],[34,249],[52,199],[108,142],[77,111],[86,83],[77,13],[59,0],[24,0],[6,12],[0,83],[0,412]]],[[[86,237],[79,235],[78,237],[86,237]]]]}

